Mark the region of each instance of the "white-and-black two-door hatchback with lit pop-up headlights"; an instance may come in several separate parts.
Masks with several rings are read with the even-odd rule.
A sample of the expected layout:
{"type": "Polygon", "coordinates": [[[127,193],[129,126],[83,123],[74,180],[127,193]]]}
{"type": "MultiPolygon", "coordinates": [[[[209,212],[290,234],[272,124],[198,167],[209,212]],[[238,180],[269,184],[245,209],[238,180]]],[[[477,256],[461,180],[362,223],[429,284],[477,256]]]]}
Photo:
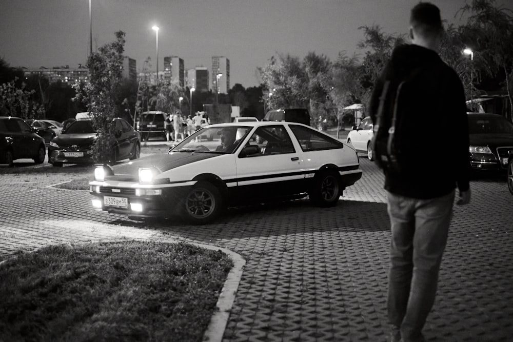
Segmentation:
{"type": "Polygon", "coordinates": [[[211,222],[225,207],[309,196],[336,205],[362,176],[356,151],[299,123],[247,122],[202,128],[168,153],[97,166],[98,210],[134,218],[180,214],[211,222]]]}

